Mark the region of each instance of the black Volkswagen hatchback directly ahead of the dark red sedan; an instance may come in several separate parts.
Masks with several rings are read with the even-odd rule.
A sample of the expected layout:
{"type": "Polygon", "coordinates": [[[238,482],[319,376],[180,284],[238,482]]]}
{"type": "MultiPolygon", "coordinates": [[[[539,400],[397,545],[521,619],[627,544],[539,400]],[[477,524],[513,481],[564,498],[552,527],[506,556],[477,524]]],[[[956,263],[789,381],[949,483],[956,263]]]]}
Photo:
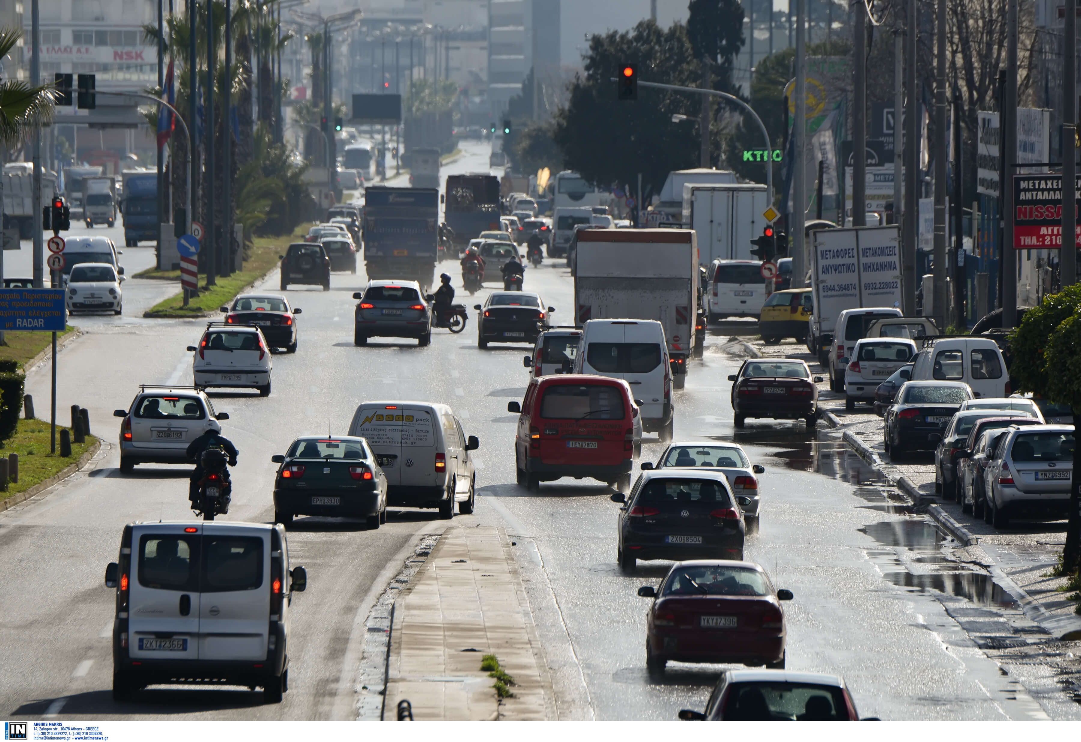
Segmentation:
{"type": "Polygon", "coordinates": [[[743,559],[743,511],[723,472],[649,471],[619,509],[619,568],[638,559],[743,559]]]}

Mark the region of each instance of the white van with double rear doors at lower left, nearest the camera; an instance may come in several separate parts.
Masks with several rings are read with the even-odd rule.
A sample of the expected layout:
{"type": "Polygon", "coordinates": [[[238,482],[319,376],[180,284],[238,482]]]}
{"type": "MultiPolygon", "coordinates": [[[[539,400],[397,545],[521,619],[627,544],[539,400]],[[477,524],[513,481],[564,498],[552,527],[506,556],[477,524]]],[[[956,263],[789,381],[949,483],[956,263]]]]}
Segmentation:
{"type": "Polygon", "coordinates": [[[134,522],[105,570],[116,588],[112,697],[148,685],[289,688],[290,602],[307,586],[290,569],[285,529],[245,522],[134,522]]]}

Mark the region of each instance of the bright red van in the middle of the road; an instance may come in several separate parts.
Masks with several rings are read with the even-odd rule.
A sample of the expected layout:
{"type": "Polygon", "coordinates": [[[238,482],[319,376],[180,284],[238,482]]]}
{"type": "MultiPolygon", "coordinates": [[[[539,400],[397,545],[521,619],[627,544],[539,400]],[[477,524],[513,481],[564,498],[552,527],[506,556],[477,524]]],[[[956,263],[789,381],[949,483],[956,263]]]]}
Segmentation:
{"type": "Polygon", "coordinates": [[[642,450],[642,418],[622,379],[559,374],[530,381],[518,412],[518,483],[536,492],[542,481],[591,477],[626,492],[642,450]]]}

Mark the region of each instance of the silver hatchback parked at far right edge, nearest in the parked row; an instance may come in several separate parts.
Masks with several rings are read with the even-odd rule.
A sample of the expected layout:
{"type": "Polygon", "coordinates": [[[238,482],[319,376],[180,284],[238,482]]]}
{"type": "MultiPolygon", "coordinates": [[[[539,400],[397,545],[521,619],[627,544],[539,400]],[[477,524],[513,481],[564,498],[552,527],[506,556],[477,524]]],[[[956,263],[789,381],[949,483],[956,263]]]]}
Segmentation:
{"type": "Polygon", "coordinates": [[[984,520],[1005,528],[1019,512],[1060,517],[1070,503],[1073,426],[1011,427],[999,438],[984,474],[984,520]]]}

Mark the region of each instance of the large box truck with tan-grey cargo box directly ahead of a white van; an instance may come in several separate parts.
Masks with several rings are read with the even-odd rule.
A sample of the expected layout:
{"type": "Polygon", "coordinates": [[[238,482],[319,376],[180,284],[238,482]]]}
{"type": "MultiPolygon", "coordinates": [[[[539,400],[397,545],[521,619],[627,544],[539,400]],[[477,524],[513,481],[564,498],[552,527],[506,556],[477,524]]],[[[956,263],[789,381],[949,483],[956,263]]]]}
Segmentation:
{"type": "Polygon", "coordinates": [[[683,387],[698,306],[692,229],[586,229],[578,234],[574,323],[655,319],[664,326],[672,386],[683,387]]]}

